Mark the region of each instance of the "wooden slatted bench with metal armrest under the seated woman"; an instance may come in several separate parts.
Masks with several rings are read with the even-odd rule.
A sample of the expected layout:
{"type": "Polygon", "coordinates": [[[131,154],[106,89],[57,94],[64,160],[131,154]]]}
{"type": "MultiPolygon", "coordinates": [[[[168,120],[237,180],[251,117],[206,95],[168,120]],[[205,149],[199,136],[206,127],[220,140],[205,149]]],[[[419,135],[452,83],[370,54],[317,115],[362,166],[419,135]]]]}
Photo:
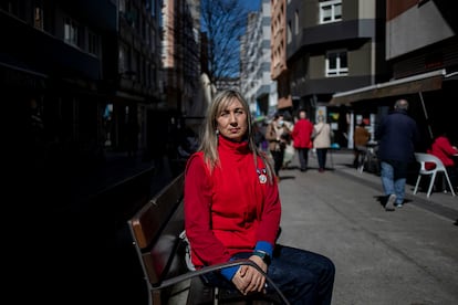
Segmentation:
{"type": "Polygon", "coordinates": [[[242,296],[235,291],[205,285],[201,281],[200,275],[226,266],[249,264],[262,272],[249,260],[188,271],[185,261],[186,243],[180,239],[185,229],[183,194],[184,173],[180,173],[127,221],[143,269],[148,304],[168,304],[174,286],[183,285],[186,281],[189,283],[184,292],[187,294],[184,297],[186,301],[178,304],[288,304],[269,277],[269,285],[278,292],[273,296],[242,296]]]}

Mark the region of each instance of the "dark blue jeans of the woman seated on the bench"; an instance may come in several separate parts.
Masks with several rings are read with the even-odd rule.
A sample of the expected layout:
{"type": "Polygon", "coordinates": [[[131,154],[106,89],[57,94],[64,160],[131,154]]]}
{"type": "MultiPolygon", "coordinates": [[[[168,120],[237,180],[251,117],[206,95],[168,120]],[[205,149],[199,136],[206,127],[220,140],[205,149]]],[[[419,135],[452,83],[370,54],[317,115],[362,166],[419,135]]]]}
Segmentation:
{"type": "MultiPolygon", "coordinates": [[[[235,259],[248,259],[251,253],[238,253],[235,259]]],[[[330,305],[334,286],[334,263],[318,253],[277,244],[268,269],[268,276],[291,305],[330,305]]],[[[221,274],[206,274],[210,285],[236,290],[221,274]]],[[[268,286],[268,294],[274,290],[268,286]]]]}

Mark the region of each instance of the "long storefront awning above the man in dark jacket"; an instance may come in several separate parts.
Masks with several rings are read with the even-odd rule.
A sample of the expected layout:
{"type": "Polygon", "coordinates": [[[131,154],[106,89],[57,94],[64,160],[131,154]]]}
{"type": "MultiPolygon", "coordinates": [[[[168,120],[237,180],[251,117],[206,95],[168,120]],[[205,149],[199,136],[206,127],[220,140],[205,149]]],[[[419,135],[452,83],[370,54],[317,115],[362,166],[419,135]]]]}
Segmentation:
{"type": "Polygon", "coordinates": [[[330,105],[343,105],[363,99],[440,90],[445,75],[446,70],[441,69],[357,90],[339,92],[332,96],[330,105]]]}

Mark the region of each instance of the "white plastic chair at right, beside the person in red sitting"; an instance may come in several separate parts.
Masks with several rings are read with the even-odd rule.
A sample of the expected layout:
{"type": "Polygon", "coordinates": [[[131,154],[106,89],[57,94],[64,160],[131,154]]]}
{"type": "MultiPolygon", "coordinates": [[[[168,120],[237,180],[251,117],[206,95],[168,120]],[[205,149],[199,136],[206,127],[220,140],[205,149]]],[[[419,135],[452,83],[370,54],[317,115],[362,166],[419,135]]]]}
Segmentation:
{"type": "Polygon", "coordinates": [[[433,191],[433,187],[436,180],[437,172],[443,172],[445,178],[447,179],[448,186],[450,187],[451,196],[455,196],[454,188],[450,182],[450,178],[448,178],[447,170],[443,161],[439,158],[437,158],[436,156],[431,154],[425,154],[425,152],[415,152],[415,158],[420,164],[420,169],[418,172],[417,183],[415,185],[414,194],[417,193],[421,176],[430,176],[428,192],[426,193],[426,197],[429,197],[433,191]],[[426,169],[426,166],[425,166],[426,162],[435,164],[435,168],[426,169]]]}

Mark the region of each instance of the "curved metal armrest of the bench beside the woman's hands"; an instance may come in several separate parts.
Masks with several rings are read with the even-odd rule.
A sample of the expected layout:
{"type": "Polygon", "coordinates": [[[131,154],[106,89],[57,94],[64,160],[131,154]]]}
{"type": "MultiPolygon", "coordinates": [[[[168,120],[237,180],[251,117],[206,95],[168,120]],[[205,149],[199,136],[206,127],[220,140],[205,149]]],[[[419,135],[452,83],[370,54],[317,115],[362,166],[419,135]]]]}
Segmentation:
{"type": "Polygon", "coordinates": [[[226,262],[226,263],[221,263],[221,264],[215,264],[215,265],[210,265],[210,266],[205,266],[202,269],[196,270],[196,271],[190,271],[167,280],[164,280],[159,286],[156,286],[155,288],[164,288],[167,286],[171,286],[175,284],[178,284],[183,281],[186,280],[190,280],[192,277],[196,276],[200,276],[204,275],[206,273],[210,273],[210,272],[215,272],[225,267],[232,267],[232,266],[238,266],[238,265],[250,265],[252,267],[254,267],[256,270],[258,270],[264,277],[266,281],[268,282],[268,284],[273,287],[273,290],[277,292],[277,294],[280,296],[281,301],[285,304],[285,305],[290,305],[290,303],[288,302],[288,299],[284,297],[283,293],[280,291],[280,288],[273,283],[273,281],[267,275],[266,272],[263,272],[263,270],[258,266],[253,261],[250,261],[248,259],[240,259],[240,260],[235,260],[235,261],[230,261],[230,262],[226,262]]]}

